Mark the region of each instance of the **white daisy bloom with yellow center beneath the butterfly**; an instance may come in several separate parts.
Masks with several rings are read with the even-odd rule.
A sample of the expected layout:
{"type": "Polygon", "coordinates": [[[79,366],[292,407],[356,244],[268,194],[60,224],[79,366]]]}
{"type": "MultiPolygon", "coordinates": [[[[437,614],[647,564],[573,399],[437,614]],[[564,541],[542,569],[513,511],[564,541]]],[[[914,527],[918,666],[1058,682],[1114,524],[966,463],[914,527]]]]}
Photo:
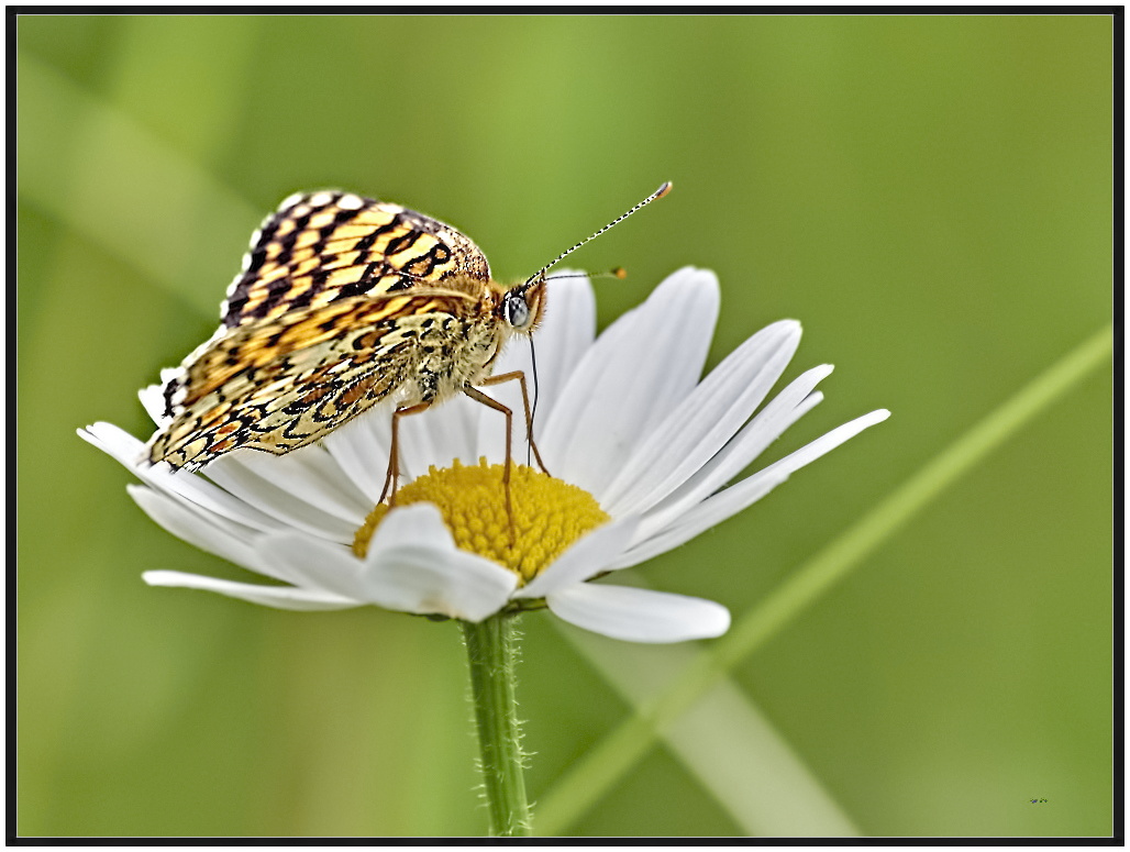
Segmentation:
{"type": "MultiPolygon", "coordinates": [[[[553,478],[515,467],[512,522],[501,469],[488,488],[480,485],[485,462],[475,466],[504,460],[503,418],[463,397],[403,420],[397,507],[379,508],[368,523],[384,482],[388,409],[320,445],[284,457],[238,451],[200,475],[150,467],[141,441],[98,423],[79,434],[141,479],[129,493],[154,521],[279,581],[150,571],[146,582],[282,609],[375,605],[468,621],[547,606],[580,627],[634,642],[724,633],[729,611],[713,601],[590,581],[688,541],[889,412],[859,417],[727,487],[822,399],[816,385],[831,366],[803,373],[754,415],[792,358],[800,324],[768,325],[699,381],[719,311],[712,272],[679,270],[597,338],[588,280],[549,287],[536,341],[536,429],[553,478]]],[[[529,374],[529,358],[515,344],[495,372],[529,374]]],[[[516,389],[513,399],[507,390],[490,389],[521,412],[516,389]]],[[[156,389],[141,399],[156,419],[156,389]]],[[[515,416],[515,447],[521,420],[515,416]]]]}

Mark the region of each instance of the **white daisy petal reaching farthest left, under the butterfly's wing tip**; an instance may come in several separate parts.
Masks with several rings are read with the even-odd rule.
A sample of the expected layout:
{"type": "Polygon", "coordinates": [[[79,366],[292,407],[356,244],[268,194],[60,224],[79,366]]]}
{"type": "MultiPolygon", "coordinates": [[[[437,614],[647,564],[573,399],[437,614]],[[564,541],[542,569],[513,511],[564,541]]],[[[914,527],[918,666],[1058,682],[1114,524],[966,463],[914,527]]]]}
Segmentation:
{"type": "Polygon", "coordinates": [[[136,477],[157,490],[168,494],[257,530],[280,529],[282,524],[252,505],[236,499],[202,477],[186,471],[173,472],[165,463],[145,460],[146,446],[112,423],[96,423],[78,431],[79,437],[114,457],[136,477]]]}

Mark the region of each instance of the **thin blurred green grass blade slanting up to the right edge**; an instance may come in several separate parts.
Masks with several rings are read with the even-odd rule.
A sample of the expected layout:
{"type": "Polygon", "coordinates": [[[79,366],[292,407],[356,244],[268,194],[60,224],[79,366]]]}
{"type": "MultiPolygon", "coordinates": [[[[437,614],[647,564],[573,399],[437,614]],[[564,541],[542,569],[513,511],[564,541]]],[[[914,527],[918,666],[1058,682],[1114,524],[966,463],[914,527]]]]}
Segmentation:
{"type": "Polygon", "coordinates": [[[765,601],[738,619],[730,633],[701,652],[666,693],[638,706],[631,719],[541,798],[534,811],[538,834],[555,835],[568,828],[647,753],[659,732],[670,730],[727,671],[760,647],[992,450],[1105,364],[1113,342],[1110,325],[1085,340],[801,565],[765,601]]]}

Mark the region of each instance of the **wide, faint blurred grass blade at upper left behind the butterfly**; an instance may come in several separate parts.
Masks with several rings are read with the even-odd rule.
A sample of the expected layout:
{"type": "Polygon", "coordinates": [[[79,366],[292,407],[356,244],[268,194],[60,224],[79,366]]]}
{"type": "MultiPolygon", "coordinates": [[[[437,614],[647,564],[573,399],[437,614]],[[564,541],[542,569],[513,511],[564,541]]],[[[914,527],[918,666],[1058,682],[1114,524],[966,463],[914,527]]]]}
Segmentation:
{"type": "Polygon", "coordinates": [[[262,211],[26,52],[17,87],[20,198],[216,315],[220,282],[262,211]]]}

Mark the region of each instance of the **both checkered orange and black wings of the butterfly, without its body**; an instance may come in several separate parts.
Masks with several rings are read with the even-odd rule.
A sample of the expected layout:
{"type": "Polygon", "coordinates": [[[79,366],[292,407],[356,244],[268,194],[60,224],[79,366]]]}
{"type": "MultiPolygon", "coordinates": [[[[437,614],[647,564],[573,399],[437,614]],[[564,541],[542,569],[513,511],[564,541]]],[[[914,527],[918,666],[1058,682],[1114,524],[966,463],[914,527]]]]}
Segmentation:
{"type": "Polygon", "coordinates": [[[449,225],[351,193],[292,195],[252,237],[219,329],[163,376],[150,461],[197,469],[240,446],[316,441],[403,386],[412,330],[489,280],[449,225]]]}

